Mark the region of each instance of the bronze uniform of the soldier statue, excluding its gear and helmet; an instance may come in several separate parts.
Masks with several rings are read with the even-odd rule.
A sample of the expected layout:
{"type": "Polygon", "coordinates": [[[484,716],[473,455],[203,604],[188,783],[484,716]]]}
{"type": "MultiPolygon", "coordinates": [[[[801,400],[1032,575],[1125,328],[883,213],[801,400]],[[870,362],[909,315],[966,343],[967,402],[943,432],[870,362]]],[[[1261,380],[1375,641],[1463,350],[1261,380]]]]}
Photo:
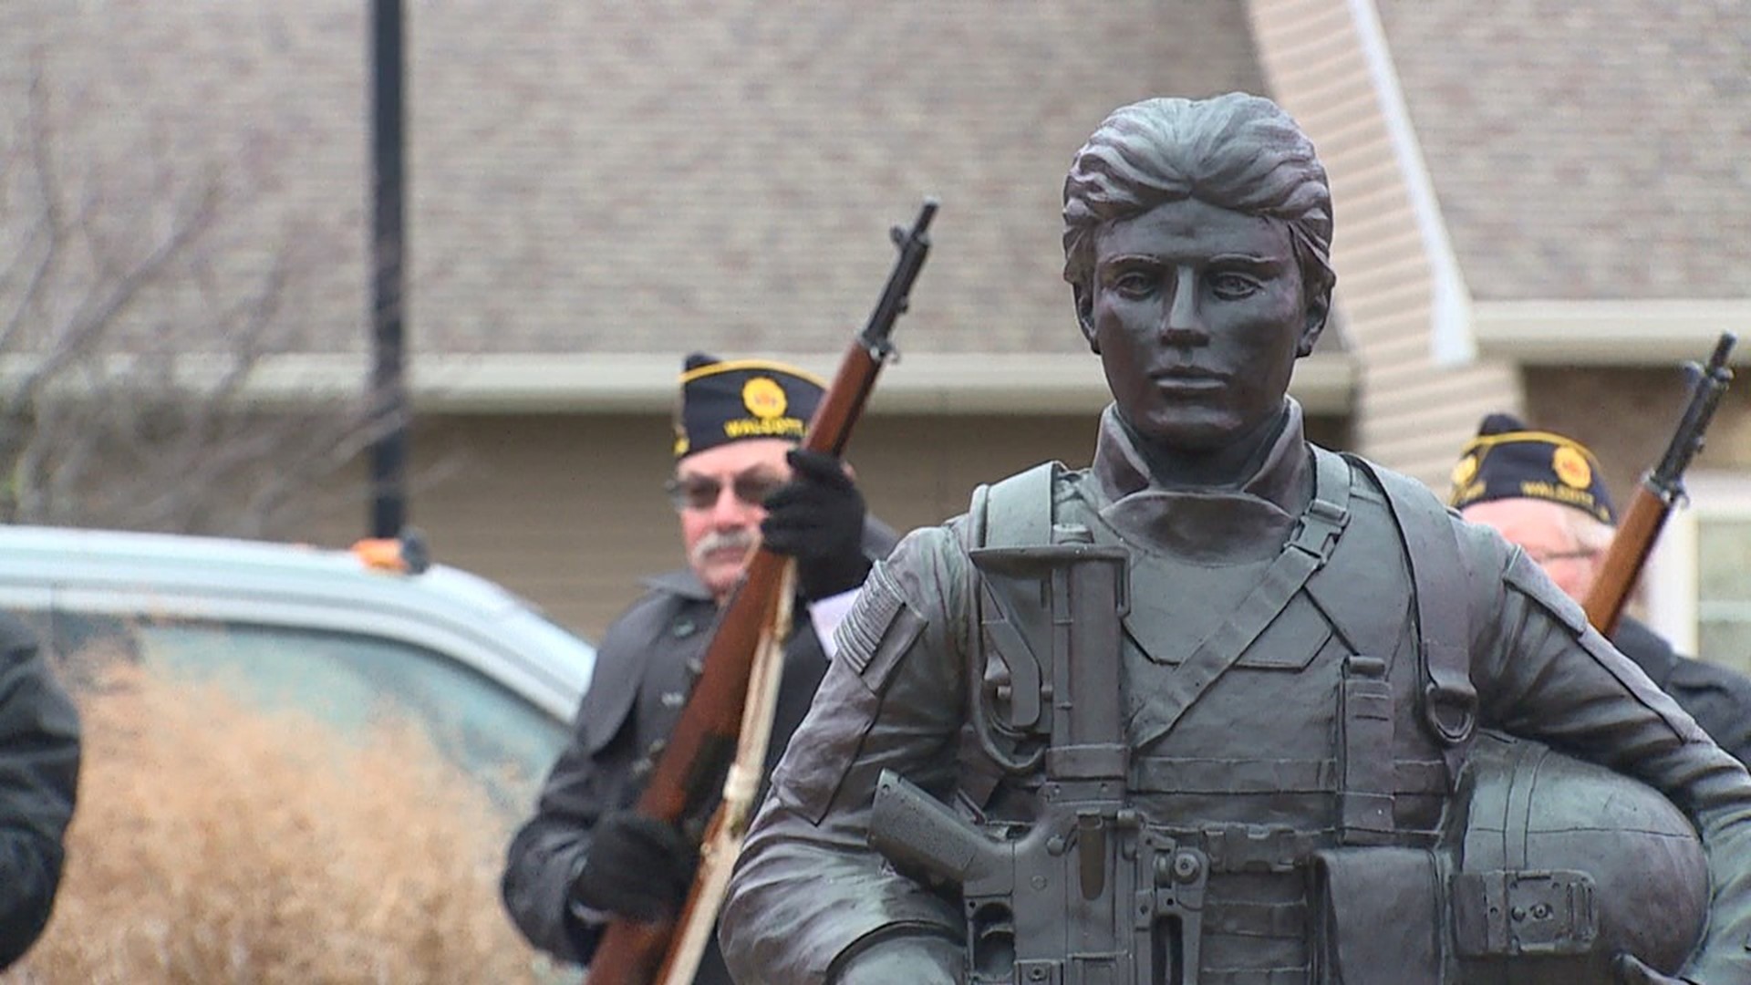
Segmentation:
{"type": "MultiPolygon", "coordinates": [[[[1255,634],[1240,636],[1238,659],[1199,687],[1184,713],[1166,724],[1152,719],[1177,687],[1175,671],[1276,577],[1276,557],[1315,496],[1315,475],[1329,475],[1320,459],[1343,461],[1315,456],[1290,403],[1283,433],[1243,489],[1164,489],[1108,410],[1093,468],[1059,473],[1051,487],[1054,522],[1084,526],[1096,545],[1129,554],[1115,682],[1128,712],[1128,792],[1149,824],[1208,857],[1201,985],[1310,981],[1308,861],[1354,843],[1340,801],[1355,790],[1340,775],[1364,776],[1390,803],[1371,843],[1427,847],[1462,752],[1425,715],[1431,671],[1401,540],[1408,528],[1376,470],[1361,464],[1343,470],[1348,522],[1324,568],[1255,634]],[[1385,661],[1392,694],[1390,740],[1373,750],[1343,741],[1345,673],[1366,663],[1355,655],[1385,661]],[[1359,757],[1373,761],[1359,768],[1359,757]]],[[[1396,489],[1406,484],[1387,478],[1396,489]]],[[[1714,890],[1707,938],[1686,974],[1751,981],[1751,885],[1725,862],[1751,857],[1751,776],[1586,629],[1578,606],[1520,550],[1439,512],[1432,496],[1427,507],[1448,524],[1441,531],[1452,533],[1460,561],[1446,584],[1464,598],[1441,603],[1464,606],[1464,645],[1455,652],[1476,692],[1476,724],[1607,764],[1681,806],[1709,848],[1714,890]]],[[[988,533],[1002,538],[1002,517],[989,522],[988,533]]],[[[732,882],[721,939],[739,980],[823,981],[832,962],[870,934],[961,939],[953,901],[867,847],[883,769],[984,822],[1026,820],[1040,778],[1002,775],[965,738],[968,680],[981,678],[968,661],[982,659],[968,547],[989,543],[972,533],[977,526],[958,517],[911,535],[840,626],[839,655],[774,775],[732,882]]]]}

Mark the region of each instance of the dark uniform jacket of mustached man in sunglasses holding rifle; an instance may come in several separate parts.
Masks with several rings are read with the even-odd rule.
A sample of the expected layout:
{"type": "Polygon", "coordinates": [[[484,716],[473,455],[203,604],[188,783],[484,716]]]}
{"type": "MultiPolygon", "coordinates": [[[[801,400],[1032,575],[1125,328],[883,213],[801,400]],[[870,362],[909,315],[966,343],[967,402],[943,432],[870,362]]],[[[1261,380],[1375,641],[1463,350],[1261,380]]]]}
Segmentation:
{"type": "MultiPolygon", "coordinates": [[[[867,554],[881,557],[893,542],[893,531],[868,524],[867,554]]],[[[643,792],[632,764],[674,729],[695,680],[690,664],[704,655],[718,617],[711,592],[690,570],[644,584],[650,592],[608,627],[597,647],[590,691],[578,706],[576,734],[553,764],[536,815],[511,840],[504,868],[504,904],[524,936],[574,962],[588,962],[602,931],[567,908],[567,890],[590,850],[590,831],[604,813],[634,806],[643,792]]],[[[797,629],[784,645],[767,773],[826,671],[807,606],[798,603],[795,613],[797,629]]],[[[695,981],[730,981],[714,941],[695,981]]]]}

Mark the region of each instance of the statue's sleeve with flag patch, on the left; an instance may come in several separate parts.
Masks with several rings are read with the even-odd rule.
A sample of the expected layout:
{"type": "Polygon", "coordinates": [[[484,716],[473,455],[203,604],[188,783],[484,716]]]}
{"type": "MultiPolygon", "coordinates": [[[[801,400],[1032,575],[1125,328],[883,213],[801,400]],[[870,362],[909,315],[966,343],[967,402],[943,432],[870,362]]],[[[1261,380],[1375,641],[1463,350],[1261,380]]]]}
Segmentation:
{"type": "Polygon", "coordinates": [[[825,981],[835,959],[893,934],[960,939],[958,910],[897,875],[867,836],[883,769],[953,796],[967,570],[951,528],[914,531],[840,624],[730,882],[720,939],[739,981],[825,981]]]}

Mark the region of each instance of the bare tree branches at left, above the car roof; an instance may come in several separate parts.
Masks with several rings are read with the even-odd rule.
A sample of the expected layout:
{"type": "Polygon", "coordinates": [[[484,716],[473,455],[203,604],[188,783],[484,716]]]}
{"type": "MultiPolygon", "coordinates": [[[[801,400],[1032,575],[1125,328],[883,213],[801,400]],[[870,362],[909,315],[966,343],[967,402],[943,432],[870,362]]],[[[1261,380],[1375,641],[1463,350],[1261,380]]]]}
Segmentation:
{"type": "Polygon", "coordinates": [[[130,163],[156,167],[151,195],[117,191],[96,161],[63,181],[40,67],[25,105],[19,142],[0,147],[0,519],[271,535],[399,424],[369,412],[362,379],[345,400],[252,398],[301,342],[292,294],[326,258],[287,226],[278,245],[250,238],[266,263],[240,273],[219,235],[254,175],[142,149],[130,163]]]}

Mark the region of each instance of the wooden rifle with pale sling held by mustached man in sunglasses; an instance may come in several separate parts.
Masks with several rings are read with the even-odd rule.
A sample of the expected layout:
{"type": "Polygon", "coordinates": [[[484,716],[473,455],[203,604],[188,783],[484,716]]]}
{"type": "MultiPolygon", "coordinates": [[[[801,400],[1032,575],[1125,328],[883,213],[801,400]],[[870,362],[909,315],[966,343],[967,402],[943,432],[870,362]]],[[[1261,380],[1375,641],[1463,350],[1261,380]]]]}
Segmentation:
{"type": "MultiPolygon", "coordinates": [[[[802,445],[842,454],[858,422],[876,375],[895,358],[888,340],[907,310],[912,280],[930,252],[930,219],[937,202],[926,198],[911,230],[895,226],[900,249],[868,324],[851,342],[821,398],[802,445]]],[[[602,932],[590,960],[587,985],[686,985],[713,932],[730,866],[760,789],[783,643],[790,627],[791,561],[758,549],[706,648],[699,682],[667,741],[646,750],[646,775],[637,811],[676,826],[700,848],[700,869],[686,904],[674,920],[643,924],[616,918],[602,932]]]]}

